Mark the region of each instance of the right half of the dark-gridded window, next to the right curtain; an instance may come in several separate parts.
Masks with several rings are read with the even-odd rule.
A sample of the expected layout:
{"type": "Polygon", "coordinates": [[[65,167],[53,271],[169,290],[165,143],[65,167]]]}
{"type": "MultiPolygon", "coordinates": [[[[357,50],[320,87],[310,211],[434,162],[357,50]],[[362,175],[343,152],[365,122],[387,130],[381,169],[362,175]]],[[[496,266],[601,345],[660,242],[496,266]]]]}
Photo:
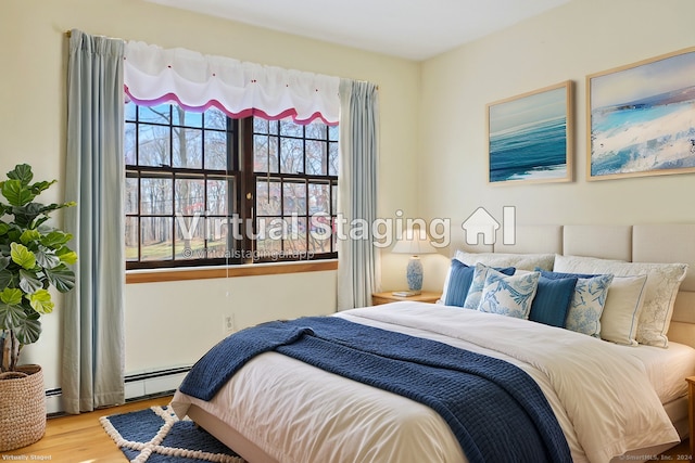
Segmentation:
{"type": "Polygon", "coordinates": [[[336,256],[338,127],[253,120],[260,260],[336,256]]]}

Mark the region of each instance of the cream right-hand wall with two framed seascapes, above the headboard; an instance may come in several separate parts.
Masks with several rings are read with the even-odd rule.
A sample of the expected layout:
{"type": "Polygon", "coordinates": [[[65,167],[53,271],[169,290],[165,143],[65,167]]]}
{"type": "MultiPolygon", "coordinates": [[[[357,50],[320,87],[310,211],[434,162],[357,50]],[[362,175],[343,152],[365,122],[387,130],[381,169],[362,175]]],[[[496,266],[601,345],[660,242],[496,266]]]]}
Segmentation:
{"type": "Polygon", "coordinates": [[[452,219],[448,253],[480,206],[497,218],[515,206],[523,224],[695,222],[692,173],[585,180],[585,76],[695,46],[694,16],[692,0],[573,0],[425,62],[418,210],[452,219]],[[574,181],[488,184],[485,105],[565,80],[576,89],[574,181]]]}

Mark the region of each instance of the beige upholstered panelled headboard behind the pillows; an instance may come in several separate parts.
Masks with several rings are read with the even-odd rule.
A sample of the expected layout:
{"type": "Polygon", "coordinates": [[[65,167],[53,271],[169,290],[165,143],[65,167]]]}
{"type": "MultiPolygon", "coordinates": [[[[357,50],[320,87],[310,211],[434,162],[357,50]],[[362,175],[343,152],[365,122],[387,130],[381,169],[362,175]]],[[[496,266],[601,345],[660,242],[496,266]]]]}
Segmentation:
{"type": "Polygon", "coordinates": [[[669,339],[695,347],[695,224],[517,226],[496,253],[555,253],[690,266],[675,299],[669,339]]]}

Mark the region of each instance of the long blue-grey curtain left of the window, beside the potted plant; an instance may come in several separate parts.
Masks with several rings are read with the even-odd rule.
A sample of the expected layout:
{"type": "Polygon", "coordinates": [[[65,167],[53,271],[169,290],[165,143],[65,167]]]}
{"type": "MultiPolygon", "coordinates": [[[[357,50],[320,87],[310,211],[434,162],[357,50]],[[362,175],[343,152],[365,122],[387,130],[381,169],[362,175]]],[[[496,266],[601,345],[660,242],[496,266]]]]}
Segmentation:
{"type": "Polygon", "coordinates": [[[78,255],[65,295],[61,389],[68,413],[123,403],[124,108],[119,39],[72,30],[67,66],[65,228],[78,255]]]}

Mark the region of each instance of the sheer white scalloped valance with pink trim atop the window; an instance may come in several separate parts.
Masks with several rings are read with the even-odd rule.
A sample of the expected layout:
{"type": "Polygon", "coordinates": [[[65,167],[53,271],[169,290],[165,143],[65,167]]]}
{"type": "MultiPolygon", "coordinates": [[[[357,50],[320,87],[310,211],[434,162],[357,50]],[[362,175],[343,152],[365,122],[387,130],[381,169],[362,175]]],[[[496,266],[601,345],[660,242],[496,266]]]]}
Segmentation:
{"type": "Polygon", "coordinates": [[[230,117],[317,118],[336,125],[340,78],[264,66],[186,49],[126,44],[124,83],[138,104],[176,102],[188,111],[217,107],[230,117]]]}

